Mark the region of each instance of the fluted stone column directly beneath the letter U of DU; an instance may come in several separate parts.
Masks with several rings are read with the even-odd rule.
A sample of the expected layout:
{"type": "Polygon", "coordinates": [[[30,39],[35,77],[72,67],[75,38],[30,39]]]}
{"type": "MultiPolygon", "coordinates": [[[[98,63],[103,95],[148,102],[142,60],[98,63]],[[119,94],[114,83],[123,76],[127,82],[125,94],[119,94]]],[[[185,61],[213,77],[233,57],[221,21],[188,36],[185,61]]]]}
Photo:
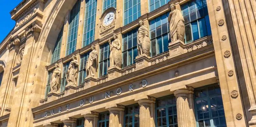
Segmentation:
{"type": "Polygon", "coordinates": [[[98,112],[88,112],[84,115],[84,126],[85,127],[98,127],[98,112]]]}

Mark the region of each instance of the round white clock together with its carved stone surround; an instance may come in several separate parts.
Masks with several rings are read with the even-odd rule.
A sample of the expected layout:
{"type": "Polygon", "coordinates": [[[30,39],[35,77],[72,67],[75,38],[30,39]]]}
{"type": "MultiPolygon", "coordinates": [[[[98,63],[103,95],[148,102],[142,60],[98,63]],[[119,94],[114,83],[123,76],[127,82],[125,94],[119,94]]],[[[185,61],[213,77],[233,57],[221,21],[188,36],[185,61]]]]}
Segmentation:
{"type": "Polygon", "coordinates": [[[110,7],[105,10],[100,18],[100,34],[101,36],[107,35],[112,32],[116,24],[116,9],[110,7]]]}

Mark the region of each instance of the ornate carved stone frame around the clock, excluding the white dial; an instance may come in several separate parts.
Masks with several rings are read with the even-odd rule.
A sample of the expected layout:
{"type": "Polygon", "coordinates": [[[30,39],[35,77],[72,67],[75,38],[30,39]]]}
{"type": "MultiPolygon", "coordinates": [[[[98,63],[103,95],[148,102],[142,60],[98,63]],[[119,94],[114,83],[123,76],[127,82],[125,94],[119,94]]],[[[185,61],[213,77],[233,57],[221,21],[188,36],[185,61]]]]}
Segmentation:
{"type": "Polygon", "coordinates": [[[103,12],[100,19],[100,35],[101,37],[111,33],[116,25],[116,9],[114,7],[110,7],[107,10],[103,12]],[[114,20],[109,25],[105,26],[103,23],[104,17],[109,13],[113,11],[114,12],[114,20]]]}

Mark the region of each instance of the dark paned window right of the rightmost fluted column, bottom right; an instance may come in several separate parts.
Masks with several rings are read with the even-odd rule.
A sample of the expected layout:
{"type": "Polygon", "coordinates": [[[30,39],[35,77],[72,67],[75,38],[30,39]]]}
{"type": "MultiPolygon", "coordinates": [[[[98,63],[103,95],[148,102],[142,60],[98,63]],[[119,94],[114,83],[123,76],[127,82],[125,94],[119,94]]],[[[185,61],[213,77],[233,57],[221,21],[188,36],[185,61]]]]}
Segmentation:
{"type": "Polygon", "coordinates": [[[199,87],[194,92],[197,126],[227,127],[219,85],[199,87]]]}

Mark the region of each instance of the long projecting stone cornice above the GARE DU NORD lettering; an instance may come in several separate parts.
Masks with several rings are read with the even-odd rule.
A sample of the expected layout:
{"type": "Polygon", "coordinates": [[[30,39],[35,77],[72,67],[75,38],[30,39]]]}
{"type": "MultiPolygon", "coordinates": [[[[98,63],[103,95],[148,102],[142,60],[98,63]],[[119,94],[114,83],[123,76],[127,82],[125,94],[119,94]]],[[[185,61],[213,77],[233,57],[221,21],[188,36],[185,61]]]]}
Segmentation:
{"type": "MultiPolygon", "coordinates": [[[[129,73],[127,75],[124,75],[124,76],[109,80],[107,82],[92,86],[92,87],[82,90],[80,92],[65,96],[61,99],[46,103],[46,104],[38,106],[38,107],[35,107],[32,109],[32,112],[37,114],[42,111],[49,110],[50,108],[58,107],[59,105],[71,103],[71,102],[77,101],[84,97],[89,97],[89,96],[92,96],[92,95],[95,95],[98,93],[102,93],[107,90],[111,90],[112,88],[127,84],[127,82],[131,82],[131,81],[133,82],[134,80],[141,80],[143,78],[150,77],[151,75],[163,73],[165,71],[169,71],[169,70],[175,69],[180,66],[187,65],[189,63],[192,63],[192,62],[195,62],[195,61],[198,61],[201,59],[212,57],[214,55],[215,54],[214,54],[213,45],[208,45],[208,46],[202,47],[198,50],[173,57],[171,59],[160,62],[158,64],[149,66],[147,68],[135,71],[133,73],[129,73]]],[[[211,69],[216,69],[216,67],[213,67],[211,69]]],[[[209,71],[209,70],[206,70],[206,71],[209,71]]],[[[200,73],[202,73],[202,72],[200,72],[200,73]]],[[[175,79],[175,80],[177,80],[177,79],[175,79]]],[[[116,99],[116,98],[112,98],[112,99],[116,99]]],[[[108,101],[109,101],[109,99],[108,99],[108,101]]],[[[103,102],[99,102],[99,103],[103,103],[103,102]]],[[[98,103],[94,103],[92,105],[97,105],[97,104],[98,103]]]]}

